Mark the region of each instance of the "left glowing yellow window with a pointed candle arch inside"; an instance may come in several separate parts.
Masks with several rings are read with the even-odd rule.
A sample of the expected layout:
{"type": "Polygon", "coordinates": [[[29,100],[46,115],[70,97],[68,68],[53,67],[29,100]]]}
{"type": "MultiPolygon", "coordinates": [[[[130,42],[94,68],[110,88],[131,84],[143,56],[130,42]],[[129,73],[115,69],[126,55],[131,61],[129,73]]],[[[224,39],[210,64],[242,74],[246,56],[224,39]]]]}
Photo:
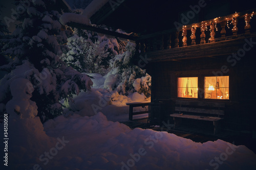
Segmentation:
{"type": "Polygon", "coordinates": [[[198,78],[185,77],[178,78],[178,97],[179,98],[197,98],[198,78]]]}

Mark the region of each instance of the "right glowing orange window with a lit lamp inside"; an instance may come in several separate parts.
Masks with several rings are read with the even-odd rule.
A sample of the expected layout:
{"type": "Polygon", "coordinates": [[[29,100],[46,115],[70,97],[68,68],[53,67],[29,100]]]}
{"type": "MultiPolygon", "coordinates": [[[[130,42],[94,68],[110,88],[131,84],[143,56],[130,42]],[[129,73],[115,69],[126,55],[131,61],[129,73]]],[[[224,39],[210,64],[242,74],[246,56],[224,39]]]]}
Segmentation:
{"type": "Polygon", "coordinates": [[[205,99],[229,99],[229,76],[205,77],[205,99]]]}

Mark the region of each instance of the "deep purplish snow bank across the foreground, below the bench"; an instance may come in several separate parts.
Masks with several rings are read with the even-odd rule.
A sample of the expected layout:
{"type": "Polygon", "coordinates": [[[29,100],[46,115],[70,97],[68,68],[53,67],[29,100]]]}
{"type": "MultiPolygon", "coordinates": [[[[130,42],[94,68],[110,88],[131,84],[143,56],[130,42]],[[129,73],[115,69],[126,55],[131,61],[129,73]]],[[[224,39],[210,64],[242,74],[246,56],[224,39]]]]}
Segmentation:
{"type": "MultiPolygon", "coordinates": [[[[167,132],[131,130],[108,121],[102,113],[91,117],[58,116],[44,124],[46,134],[42,128],[36,128],[41,126],[39,121],[29,121],[32,126],[12,131],[12,140],[17,141],[19,150],[10,145],[10,157],[12,152],[22,153],[16,155],[18,161],[12,169],[33,169],[35,165],[55,170],[255,168],[256,155],[244,145],[223,140],[197,143],[167,132]],[[26,133],[24,138],[30,144],[19,143],[24,138],[17,133],[26,133]]],[[[22,120],[19,122],[22,124],[22,120]]]]}

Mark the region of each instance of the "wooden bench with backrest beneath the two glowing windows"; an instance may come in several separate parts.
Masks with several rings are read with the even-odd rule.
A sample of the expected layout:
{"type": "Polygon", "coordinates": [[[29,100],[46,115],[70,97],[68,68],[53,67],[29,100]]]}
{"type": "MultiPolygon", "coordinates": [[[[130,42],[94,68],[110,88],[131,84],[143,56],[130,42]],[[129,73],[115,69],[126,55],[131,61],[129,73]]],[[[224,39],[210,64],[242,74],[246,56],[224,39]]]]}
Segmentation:
{"type": "Polygon", "coordinates": [[[175,126],[178,126],[179,118],[197,119],[211,121],[214,124],[214,134],[218,133],[219,122],[224,118],[225,103],[199,102],[176,100],[175,111],[170,114],[174,118],[175,126]]]}

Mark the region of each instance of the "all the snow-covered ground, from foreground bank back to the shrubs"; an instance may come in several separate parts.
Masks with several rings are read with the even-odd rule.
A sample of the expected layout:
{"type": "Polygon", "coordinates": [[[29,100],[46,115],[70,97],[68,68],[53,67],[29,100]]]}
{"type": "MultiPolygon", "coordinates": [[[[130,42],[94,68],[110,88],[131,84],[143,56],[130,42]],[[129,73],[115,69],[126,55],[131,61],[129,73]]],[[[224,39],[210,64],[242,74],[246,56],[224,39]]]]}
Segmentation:
{"type": "Polygon", "coordinates": [[[131,130],[119,123],[128,119],[126,103],[144,95],[109,92],[99,75],[93,81],[91,92],[63,103],[66,114],[44,125],[38,117],[10,115],[7,169],[255,169],[256,155],[244,145],[131,130]]]}

